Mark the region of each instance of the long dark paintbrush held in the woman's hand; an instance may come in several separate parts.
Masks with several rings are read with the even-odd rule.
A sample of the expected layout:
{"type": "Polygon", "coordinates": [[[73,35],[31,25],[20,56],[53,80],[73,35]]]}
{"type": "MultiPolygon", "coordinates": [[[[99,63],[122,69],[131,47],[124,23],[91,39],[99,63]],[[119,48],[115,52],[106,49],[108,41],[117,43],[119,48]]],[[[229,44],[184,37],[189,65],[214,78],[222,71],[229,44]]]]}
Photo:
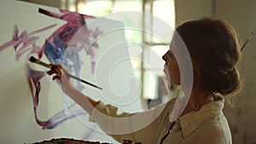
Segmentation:
{"type": "MultiPolygon", "coordinates": [[[[49,68],[49,69],[52,69],[52,70],[55,69],[54,66],[50,66],[49,64],[44,63],[43,61],[38,60],[38,59],[36,59],[36,58],[33,57],[33,56],[31,56],[31,57],[29,58],[29,60],[30,60],[31,62],[34,62],[34,63],[38,64],[38,65],[47,67],[47,68],[49,68]]],[[[95,84],[91,84],[91,83],[89,83],[89,82],[87,82],[87,81],[85,81],[85,80],[83,80],[83,79],[81,79],[81,78],[77,78],[77,77],[71,75],[71,74],[68,73],[68,72],[64,72],[64,73],[65,73],[65,75],[66,75],[67,77],[70,77],[70,78],[73,78],[73,79],[78,80],[78,81],[80,81],[80,82],[83,82],[84,84],[89,84],[90,86],[93,86],[93,87],[95,87],[96,89],[102,89],[101,87],[96,86],[95,84]]]]}

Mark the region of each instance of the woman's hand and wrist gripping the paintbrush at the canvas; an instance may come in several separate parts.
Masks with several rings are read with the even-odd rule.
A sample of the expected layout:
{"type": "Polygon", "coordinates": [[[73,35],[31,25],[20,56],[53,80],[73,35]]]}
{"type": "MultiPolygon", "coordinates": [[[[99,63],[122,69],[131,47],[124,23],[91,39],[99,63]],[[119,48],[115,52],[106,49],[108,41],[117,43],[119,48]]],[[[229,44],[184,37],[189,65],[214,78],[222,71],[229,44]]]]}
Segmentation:
{"type": "Polygon", "coordinates": [[[59,79],[61,81],[61,88],[63,92],[67,95],[70,95],[75,89],[73,87],[73,84],[70,81],[70,78],[66,76],[65,72],[68,73],[67,69],[64,66],[61,65],[55,65],[55,64],[50,64],[53,68],[49,70],[47,73],[49,75],[52,75],[55,73],[55,76],[52,78],[53,80],[59,79]]]}

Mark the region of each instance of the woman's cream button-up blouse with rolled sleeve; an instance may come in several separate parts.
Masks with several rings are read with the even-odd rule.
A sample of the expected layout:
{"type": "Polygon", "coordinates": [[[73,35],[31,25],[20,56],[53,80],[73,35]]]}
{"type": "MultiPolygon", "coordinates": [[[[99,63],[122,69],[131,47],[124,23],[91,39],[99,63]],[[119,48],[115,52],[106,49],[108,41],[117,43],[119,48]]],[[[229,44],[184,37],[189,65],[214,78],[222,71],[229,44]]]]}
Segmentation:
{"type": "Polygon", "coordinates": [[[222,112],[224,100],[207,103],[170,123],[174,100],[145,112],[119,112],[101,101],[90,114],[103,131],[120,143],[123,140],[143,144],[231,144],[227,119],[222,112]],[[172,129],[171,129],[172,128],[172,129]]]}

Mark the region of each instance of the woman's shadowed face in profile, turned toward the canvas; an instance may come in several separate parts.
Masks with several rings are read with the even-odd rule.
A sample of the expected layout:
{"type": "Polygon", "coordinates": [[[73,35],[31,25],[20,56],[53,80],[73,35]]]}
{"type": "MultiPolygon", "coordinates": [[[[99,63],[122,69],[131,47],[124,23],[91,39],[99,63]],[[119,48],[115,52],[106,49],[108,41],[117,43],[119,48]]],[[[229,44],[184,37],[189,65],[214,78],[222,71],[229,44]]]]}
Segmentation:
{"type": "Polygon", "coordinates": [[[172,54],[171,49],[162,56],[162,59],[166,61],[164,72],[166,78],[168,78],[171,84],[180,84],[180,72],[177,65],[177,60],[172,54]]]}

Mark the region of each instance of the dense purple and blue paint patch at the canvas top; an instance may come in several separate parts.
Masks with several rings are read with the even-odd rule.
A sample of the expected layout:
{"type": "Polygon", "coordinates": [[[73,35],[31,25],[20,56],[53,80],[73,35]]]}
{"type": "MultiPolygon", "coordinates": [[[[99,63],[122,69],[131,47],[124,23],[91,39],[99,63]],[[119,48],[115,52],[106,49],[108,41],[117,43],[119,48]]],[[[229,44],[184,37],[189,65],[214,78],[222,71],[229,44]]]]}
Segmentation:
{"type": "Polygon", "coordinates": [[[102,31],[99,28],[96,28],[96,31],[89,29],[84,19],[94,19],[95,17],[63,9],[60,9],[61,14],[55,14],[45,9],[38,9],[38,12],[67,21],[67,24],[61,26],[49,36],[42,47],[43,49],[45,48],[44,53],[47,55],[49,61],[57,64],[63,62],[63,65],[66,66],[68,70],[71,70],[73,68],[72,66],[77,66],[74,67],[75,75],[79,77],[79,66],[81,64],[79,52],[84,49],[86,54],[91,57],[91,72],[94,73],[96,48],[98,48],[98,44],[92,42],[102,34],[102,31]],[[83,37],[73,38],[77,32],[81,32],[81,36],[83,37]],[[67,48],[72,49],[67,50],[65,54],[67,59],[73,61],[73,64],[70,65],[68,65],[67,59],[63,60],[63,55],[67,48]]]}

